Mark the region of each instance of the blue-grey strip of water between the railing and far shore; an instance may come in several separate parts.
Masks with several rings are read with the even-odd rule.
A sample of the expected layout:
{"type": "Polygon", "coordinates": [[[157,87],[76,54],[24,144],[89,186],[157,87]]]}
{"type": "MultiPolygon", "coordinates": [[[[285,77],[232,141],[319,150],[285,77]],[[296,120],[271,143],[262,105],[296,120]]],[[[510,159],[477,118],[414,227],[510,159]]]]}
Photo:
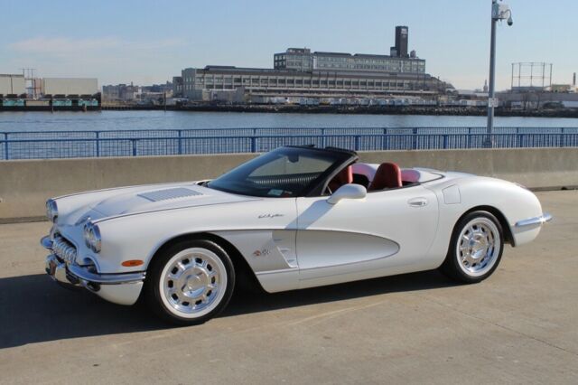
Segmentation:
{"type": "MultiPolygon", "coordinates": [[[[3,131],[234,127],[485,127],[486,117],[189,111],[2,112],[3,131]]],[[[496,117],[496,127],[578,127],[576,118],[496,117]]]]}

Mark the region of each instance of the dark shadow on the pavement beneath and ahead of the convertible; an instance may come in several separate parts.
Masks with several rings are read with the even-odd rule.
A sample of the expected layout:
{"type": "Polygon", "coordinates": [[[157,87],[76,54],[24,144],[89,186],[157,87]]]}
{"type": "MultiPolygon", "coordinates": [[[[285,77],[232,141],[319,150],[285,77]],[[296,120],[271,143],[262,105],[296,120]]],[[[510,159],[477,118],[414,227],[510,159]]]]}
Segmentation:
{"type": "MultiPolygon", "coordinates": [[[[239,292],[219,317],[454,285],[435,271],[267,294],[239,292]]],[[[27,343],[172,328],[144,305],[107,303],[44,274],[0,278],[0,349],[27,343]]]]}

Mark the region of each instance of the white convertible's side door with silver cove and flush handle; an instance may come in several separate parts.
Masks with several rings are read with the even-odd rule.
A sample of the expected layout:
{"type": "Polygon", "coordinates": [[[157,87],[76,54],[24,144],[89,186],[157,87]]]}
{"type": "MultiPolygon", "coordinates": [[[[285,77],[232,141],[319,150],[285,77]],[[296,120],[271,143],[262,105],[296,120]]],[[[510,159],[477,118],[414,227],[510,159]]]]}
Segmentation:
{"type": "Polygon", "coordinates": [[[438,204],[421,185],[368,192],[336,204],[297,198],[300,286],[328,285],[416,271],[437,227],[438,204]]]}

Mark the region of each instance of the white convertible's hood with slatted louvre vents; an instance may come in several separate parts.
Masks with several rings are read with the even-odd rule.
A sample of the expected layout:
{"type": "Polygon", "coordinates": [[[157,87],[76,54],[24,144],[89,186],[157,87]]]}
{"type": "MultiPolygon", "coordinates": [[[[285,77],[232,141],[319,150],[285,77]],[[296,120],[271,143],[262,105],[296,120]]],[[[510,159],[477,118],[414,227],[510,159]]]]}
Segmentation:
{"type": "Polygon", "coordinates": [[[67,224],[79,224],[151,211],[174,210],[213,204],[254,201],[258,198],[220,192],[197,183],[152,184],[89,192],[90,202],[70,213],[67,224]]]}

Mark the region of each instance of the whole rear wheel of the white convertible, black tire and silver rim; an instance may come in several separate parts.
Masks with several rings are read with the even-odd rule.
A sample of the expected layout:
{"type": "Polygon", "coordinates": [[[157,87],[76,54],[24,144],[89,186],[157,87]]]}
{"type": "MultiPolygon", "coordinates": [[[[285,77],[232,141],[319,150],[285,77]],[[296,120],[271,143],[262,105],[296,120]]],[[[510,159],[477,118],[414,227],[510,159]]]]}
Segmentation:
{"type": "Polygon", "coordinates": [[[452,232],[452,239],[450,240],[450,246],[448,248],[448,254],[445,257],[440,270],[444,275],[458,282],[466,284],[478,283],[491,276],[494,270],[498,268],[503,251],[504,232],[498,219],[488,211],[472,211],[467,215],[464,215],[455,225],[452,232]],[[476,229],[475,225],[472,225],[472,223],[479,223],[478,228],[480,230],[476,230],[479,232],[472,231],[476,229]],[[484,229],[486,232],[484,232],[484,229]],[[471,247],[471,243],[465,240],[468,237],[468,232],[464,233],[463,235],[465,237],[464,239],[461,239],[462,232],[468,230],[470,230],[470,234],[475,233],[475,237],[480,239],[480,242],[474,245],[475,247],[481,248],[480,255],[483,256],[485,253],[486,258],[489,257],[489,259],[486,260],[485,265],[483,258],[472,262],[472,259],[474,258],[471,256],[471,249],[465,250],[465,252],[461,249],[461,247],[471,247]],[[491,239],[493,239],[494,245],[493,249],[491,249],[491,256],[488,255],[490,249],[489,246],[487,246],[492,244],[492,242],[489,241],[489,232],[492,233],[491,239]],[[494,232],[495,234],[493,234],[494,232]],[[485,240],[484,236],[486,237],[485,240]],[[484,251],[484,246],[487,247],[487,249],[485,249],[486,251],[484,251]],[[497,248],[499,249],[496,250],[497,248]],[[478,264],[478,266],[476,266],[476,264],[478,264]],[[476,268],[479,268],[480,270],[476,272],[476,268]]]}

